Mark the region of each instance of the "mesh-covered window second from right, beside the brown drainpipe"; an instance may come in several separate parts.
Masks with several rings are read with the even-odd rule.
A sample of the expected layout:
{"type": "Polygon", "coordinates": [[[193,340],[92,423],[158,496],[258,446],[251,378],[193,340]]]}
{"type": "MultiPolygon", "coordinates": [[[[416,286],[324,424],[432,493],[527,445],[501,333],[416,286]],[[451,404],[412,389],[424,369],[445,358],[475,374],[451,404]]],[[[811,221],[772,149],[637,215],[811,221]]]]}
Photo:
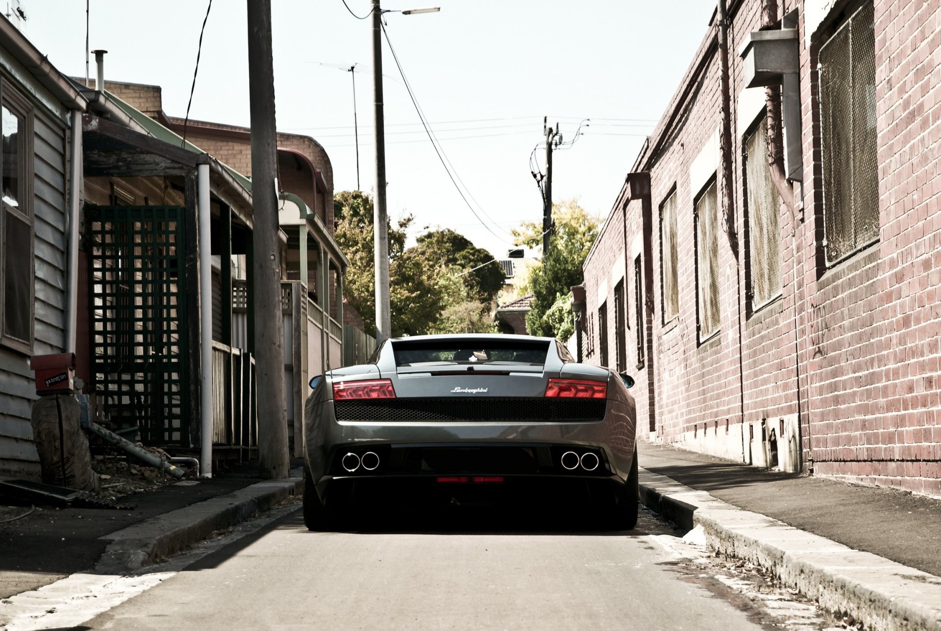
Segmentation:
{"type": "Polygon", "coordinates": [[[781,198],[768,166],[768,128],[758,125],[745,138],[745,186],[748,200],[748,262],[752,308],[781,293],[781,198]]]}

